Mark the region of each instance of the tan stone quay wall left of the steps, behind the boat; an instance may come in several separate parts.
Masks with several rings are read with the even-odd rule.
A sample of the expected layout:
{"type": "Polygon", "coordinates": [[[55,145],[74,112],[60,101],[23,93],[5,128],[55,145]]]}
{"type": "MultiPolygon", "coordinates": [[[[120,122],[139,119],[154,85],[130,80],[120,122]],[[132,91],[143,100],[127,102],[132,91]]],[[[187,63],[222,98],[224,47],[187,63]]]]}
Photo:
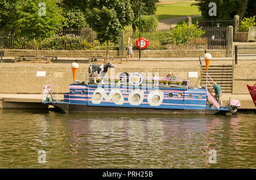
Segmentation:
{"type": "MultiPolygon", "coordinates": [[[[200,65],[187,68],[171,66],[170,68],[115,68],[115,75],[121,72],[144,72],[146,75],[148,72],[155,72],[165,77],[170,71],[175,72],[179,78],[188,78],[189,71],[197,71],[200,76],[200,65]]],[[[76,79],[85,81],[87,72],[88,65],[81,64],[76,79]]],[[[69,91],[69,84],[73,81],[70,65],[59,63],[0,63],[0,76],[0,93],[42,93],[42,86],[46,84],[57,85],[58,92],[64,93],[69,91]],[[37,71],[46,71],[46,76],[36,77],[37,71]]],[[[200,85],[200,79],[191,78],[191,85],[196,83],[200,85]]]]}

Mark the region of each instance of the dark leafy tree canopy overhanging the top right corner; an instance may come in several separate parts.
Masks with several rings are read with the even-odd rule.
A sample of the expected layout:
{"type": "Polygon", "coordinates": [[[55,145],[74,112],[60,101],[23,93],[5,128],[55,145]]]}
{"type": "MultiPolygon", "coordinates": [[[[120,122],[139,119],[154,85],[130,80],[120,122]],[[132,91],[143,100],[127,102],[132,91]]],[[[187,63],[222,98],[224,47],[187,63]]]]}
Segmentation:
{"type": "Polygon", "coordinates": [[[201,14],[204,18],[233,18],[234,15],[239,15],[240,20],[243,18],[246,12],[248,3],[255,2],[255,0],[196,0],[196,3],[192,5],[199,7],[201,14]],[[217,5],[217,16],[210,16],[209,3],[214,2],[217,5]]]}

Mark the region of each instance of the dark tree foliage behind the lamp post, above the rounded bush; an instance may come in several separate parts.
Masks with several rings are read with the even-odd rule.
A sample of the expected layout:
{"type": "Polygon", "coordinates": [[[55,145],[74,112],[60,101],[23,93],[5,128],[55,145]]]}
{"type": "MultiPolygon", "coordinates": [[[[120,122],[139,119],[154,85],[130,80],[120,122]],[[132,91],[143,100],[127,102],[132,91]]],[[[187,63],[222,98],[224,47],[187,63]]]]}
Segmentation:
{"type": "MultiPolygon", "coordinates": [[[[139,2],[141,1],[141,15],[154,15],[156,11],[155,3],[158,0],[130,0],[131,8],[134,12],[134,20],[139,18],[139,2]]],[[[136,30],[135,22],[132,23],[133,31],[136,30]]]]}

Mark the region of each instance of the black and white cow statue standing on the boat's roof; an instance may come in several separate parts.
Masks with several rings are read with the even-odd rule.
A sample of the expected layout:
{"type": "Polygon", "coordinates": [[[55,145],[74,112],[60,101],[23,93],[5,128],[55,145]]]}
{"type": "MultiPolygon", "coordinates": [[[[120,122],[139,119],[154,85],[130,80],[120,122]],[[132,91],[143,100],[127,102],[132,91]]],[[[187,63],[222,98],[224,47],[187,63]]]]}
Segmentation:
{"type": "MultiPolygon", "coordinates": [[[[111,62],[106,63],[105,65],[95,65],[93,63],[90,63],[88,76],[92,78],[94,77],[94,83],[96,83],[96,77],[103,78],[106,75],[106,72],[108,72],[109,67],[115,68],[115,66],[111,62]]],[[[104,83],[103,80],[102,83],[104,83]]]]}

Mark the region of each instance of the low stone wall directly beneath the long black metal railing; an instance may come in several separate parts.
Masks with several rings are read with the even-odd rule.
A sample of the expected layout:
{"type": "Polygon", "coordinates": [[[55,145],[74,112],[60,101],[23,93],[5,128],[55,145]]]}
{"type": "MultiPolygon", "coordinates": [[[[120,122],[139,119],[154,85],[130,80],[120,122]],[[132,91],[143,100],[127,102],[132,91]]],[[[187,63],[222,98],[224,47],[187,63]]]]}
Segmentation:
{"type": "MultiPolygon", "coordinates": [[[[21,55],[36,55],[36,50],[3,49],[5,57],[19,57],[21,55]]],[[[139,50],[133,50],[134,57],[139,57],[139,50]]],[[[118,55],[118,50],[110,50],[109,55],[118,55]]],[[[125,55],[127,50],[125,50],[125,55]]],[[[199,57],[204,50],[142,50],[143,58],[173,58],[173,57],[199,57]]],[[[213,57],[226,57],[226,50],[208,50],[213,57]]],[[[39,50],[39,55],[57,56],[64,58],[89,58],[91,56],[106,55],[105,50],[39,50]]]]}

